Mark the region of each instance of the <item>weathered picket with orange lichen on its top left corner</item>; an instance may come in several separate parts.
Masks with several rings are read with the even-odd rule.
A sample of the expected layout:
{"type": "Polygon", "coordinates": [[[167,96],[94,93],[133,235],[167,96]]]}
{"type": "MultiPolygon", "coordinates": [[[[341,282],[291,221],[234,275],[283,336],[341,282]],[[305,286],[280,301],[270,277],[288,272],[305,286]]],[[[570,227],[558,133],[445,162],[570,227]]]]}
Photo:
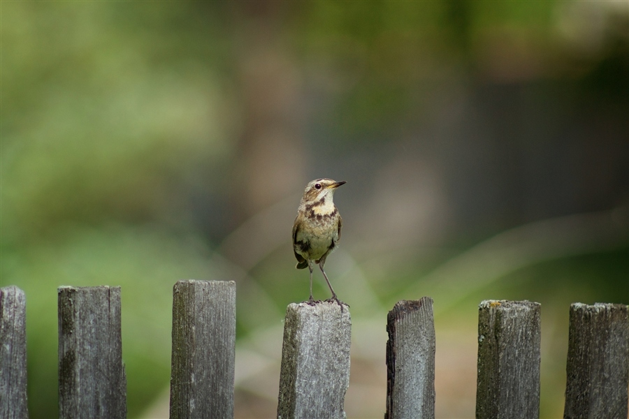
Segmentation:
{"type": "Polygon", "coordinates": [[[479,305],[477,419],[540,417],[540,311],[528,301],[479,305]]]}

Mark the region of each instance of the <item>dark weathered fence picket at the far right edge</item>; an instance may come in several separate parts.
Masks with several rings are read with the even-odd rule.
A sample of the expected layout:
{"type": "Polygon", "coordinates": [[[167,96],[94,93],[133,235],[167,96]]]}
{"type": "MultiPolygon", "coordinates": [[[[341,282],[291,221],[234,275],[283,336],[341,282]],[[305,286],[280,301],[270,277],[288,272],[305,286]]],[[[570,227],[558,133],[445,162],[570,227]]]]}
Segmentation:
{"type": "Polygon", "coordinates": [[[570,305],[565,419],[627,419],[629,309],[570,305]]]}

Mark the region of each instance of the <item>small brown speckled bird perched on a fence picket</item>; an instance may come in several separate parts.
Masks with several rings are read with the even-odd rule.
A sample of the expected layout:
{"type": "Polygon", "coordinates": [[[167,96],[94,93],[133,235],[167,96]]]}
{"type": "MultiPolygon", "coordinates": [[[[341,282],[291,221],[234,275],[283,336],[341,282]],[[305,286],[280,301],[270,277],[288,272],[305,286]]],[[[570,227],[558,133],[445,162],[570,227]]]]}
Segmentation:
{"type": "Polygon", "coordinates": [[[310,298],[308,304],[315,305],[312,297],[312,269],[313,263],[319,263],[321,272],[332,291],[332,297],[327,301],[335,301],[340,305],[324,265],[326,258],[333,251],[336,242],[340,240],[342,219],[333,203],[334,191],[345,182],[332,179],[315,179],[306,185],[303,197],[297,210],[297,218],[293,226],[293,249],[297,258],[297,269],[308,267],[310,270],[310,298]]]}

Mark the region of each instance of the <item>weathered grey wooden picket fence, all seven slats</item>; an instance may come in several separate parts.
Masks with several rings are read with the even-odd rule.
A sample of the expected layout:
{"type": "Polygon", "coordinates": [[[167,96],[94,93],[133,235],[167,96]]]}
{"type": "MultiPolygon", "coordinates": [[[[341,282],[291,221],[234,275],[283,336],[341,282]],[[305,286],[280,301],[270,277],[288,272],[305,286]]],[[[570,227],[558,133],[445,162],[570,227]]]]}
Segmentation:
{"type": "MultiPolygon", "coordinates": [[[[120,287],[58,290],[59,417],[125,418],[120,287]]],[[[25,297],[0,289],[0,418],[28,417],[25,297]]],[[[570,306],[564,418],[626,419],[629,310],[570,306]]],[[[384,319],[383,319],[384,320],[384,319]]],[[[435,417],[435,327],[429,297],[400,301],[386,322],[385,418],[435,417]]],[[[277,417],[345,418],[349,310],[290,304],[277,417]]],[[[236,284],[178,281],[173,290],[171,418],[233,418],[236,284]]],[[[477,418],[538,418],[540,304],[479,305],[477,418]]]]}

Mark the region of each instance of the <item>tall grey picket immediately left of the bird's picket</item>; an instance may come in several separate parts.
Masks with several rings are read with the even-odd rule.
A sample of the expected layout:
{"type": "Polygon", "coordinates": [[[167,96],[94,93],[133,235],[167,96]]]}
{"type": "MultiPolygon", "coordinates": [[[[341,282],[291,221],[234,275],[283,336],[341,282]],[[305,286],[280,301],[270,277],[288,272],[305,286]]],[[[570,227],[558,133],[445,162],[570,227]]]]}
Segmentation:
{"type": "Polygon", "coordinates": [[[171,419],[233,418],[236,282],[173,288],[171,419]]]}

